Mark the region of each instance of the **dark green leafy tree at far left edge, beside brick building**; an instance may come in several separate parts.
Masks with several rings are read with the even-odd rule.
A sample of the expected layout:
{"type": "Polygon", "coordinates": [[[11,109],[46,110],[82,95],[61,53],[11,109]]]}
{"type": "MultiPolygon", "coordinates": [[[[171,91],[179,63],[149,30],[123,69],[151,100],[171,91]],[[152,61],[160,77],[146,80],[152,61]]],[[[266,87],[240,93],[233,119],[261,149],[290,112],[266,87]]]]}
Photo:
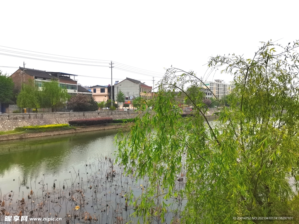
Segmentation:
{"type": "Polygon", "coordinates": [[[10,103],[13,98],[14,83],[6,74],[2,74],[0,70],[0,104],[10,103]]]}

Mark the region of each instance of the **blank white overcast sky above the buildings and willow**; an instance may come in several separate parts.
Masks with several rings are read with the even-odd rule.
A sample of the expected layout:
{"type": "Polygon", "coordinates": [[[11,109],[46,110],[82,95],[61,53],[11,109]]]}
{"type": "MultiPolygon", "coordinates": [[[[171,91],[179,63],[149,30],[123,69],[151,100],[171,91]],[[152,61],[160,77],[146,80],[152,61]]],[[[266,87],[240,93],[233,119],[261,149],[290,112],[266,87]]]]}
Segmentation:
{"type": "Polygon", "coordinates": [[[11,74],[25,61],[27,68],[78,75],[82,85],[108,85],[112,61],[112,84],[129,77],[152,86],[171,66],[229,82],[228,75],[205,76],[209,57],[252,58],[261,41],[299,39],[297,3],[0,1],[0,70],[11,74]]]}

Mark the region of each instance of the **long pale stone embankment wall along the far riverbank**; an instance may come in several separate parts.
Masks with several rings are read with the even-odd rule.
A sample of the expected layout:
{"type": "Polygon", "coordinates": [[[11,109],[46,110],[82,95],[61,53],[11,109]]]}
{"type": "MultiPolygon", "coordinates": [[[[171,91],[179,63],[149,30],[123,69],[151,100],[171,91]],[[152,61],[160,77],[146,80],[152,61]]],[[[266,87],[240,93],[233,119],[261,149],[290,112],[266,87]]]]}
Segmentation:
{"type": "Polygon", "coordinates": [[[136,111],[91,111],[59,113],[15,113],[0,114],[0,131],[30,125],[68,124],[68,121],[84,118],[112,117],[112,119],[135,118],[136,111]]]}

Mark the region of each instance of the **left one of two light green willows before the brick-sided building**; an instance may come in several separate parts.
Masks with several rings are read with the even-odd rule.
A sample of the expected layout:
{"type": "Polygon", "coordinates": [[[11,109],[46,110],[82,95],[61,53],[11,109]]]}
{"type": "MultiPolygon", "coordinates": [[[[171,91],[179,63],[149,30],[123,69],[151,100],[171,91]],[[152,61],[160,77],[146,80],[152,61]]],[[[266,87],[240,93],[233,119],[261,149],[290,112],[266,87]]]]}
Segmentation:
{"type": "Polygon", "coordinates": [[[33,79],[28,79],[28,83],[22,83],[21,92],[17,96],[17,105],[19,108],[40,108],[39,88],[35,85],[33,79]]]}

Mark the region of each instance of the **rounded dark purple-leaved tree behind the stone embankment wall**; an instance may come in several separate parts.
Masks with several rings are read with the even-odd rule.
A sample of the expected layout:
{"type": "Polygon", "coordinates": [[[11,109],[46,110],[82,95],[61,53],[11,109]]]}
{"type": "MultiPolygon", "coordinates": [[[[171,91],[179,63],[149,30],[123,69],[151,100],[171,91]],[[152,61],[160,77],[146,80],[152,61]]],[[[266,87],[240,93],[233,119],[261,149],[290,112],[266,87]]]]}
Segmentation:
{"type": "Polygon", "coordinates": [[[81,93],[73,95],[68,100],[68,105],[74,112],[90,111],[91,106],[89,96],[81,93]]]}

